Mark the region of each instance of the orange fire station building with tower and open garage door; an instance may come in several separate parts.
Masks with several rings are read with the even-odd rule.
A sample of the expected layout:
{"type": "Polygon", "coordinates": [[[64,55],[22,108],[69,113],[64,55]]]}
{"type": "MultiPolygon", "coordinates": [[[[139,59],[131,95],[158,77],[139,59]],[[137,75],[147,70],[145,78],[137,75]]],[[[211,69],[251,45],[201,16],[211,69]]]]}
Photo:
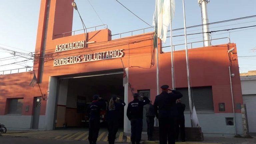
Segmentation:
{"type": "MultiPolygon", "coordinates": [[[[112,40],[109,29],[72,33],[72,0],[41,1],[33,70],[38,85],[29,86],[34,72],[0,76],[0,123],[8,129],[52,130],[83,126],[84,107],[93,94],[109,99],[117,94],[126,103],[132,92],[148,96],[156,93],[156,52],[159,55],[160,86],[172,86],[171,53],[153,48],[153,33],[112,40]],[[47,8],[47,5],[50,5],[47,8]],[[64,34],[65,33],[65,34],[64,34]],[[81,46],[81,47],[80,47],[81,46]],[[122,61],[121,59],[122,58],[122,61]],[[123,64],[129,83],[123,87],[123,64]]],[[[159,40],[160,41],[160,40],[159,40]]],[[[192,103],[195,104],[204,135],[243,134],[239,104],[243,103],[236,44],[228,43],[189,49],[192,103]],[[227,50],[234,48],[230,53],[227,50]],[[236,129],[230,89],[231,68],[236,129]]],[[[185,125],[190,127],[185,51],[174,52],[176,88],[186,104],[185,125]]],[[[124,108],[124,132],[130,123],[124,108]]]]}

